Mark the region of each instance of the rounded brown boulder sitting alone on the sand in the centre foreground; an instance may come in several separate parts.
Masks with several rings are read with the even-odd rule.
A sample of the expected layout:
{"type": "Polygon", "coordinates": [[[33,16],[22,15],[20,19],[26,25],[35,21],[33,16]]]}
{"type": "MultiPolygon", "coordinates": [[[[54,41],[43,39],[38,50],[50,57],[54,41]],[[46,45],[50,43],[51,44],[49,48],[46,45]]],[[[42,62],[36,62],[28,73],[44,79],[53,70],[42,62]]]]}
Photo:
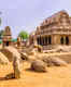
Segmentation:
{"type": "Polygon", "coordinates": [[[46,65],[44,64],[43,61],[41,60],[34,60],[31,63],[31,70],[36,71],[36,72],[46,72],[46,65]]]}

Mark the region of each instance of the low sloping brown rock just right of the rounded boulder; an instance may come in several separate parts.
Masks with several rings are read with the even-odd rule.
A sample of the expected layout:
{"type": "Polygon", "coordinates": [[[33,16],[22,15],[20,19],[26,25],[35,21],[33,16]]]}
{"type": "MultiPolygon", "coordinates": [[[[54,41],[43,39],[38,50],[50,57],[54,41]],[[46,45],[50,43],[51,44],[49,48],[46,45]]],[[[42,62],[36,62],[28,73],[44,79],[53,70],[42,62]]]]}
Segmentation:
{"type": "Polygon", "coordinates": [[[47,66],[67,66],[65,61],[56,57],[44,57],[42,61],[45,62],[47,66]]]}

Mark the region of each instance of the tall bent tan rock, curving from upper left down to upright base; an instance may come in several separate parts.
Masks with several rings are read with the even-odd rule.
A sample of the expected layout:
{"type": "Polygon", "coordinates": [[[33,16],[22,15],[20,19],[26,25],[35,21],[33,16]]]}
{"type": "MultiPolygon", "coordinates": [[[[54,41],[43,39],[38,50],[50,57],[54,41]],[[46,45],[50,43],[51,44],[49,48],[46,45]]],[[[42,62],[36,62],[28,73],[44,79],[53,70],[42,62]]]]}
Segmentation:
{"type": "Polygon", "coordinates": [[[13,62],[14,76],[15,78],[20,78],[23,63],[20,59],[20,53],[14,47],[5,47],[2,49],[2,53],[5,54],[10,62],[13,62]]]}

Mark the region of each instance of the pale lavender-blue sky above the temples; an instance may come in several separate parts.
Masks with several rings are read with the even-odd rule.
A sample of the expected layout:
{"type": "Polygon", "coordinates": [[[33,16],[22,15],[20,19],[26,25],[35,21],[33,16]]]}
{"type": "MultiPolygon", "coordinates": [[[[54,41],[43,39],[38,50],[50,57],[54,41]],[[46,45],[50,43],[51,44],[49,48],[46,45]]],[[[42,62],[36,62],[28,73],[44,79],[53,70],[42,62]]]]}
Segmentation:
{"type": "Polygon", "coordinates": [[[31,33],[44,18],[60,10],[71,15],[71,0],[0,0],[0,29],[11,26],[13,37],[20,30],[31,33]]]}

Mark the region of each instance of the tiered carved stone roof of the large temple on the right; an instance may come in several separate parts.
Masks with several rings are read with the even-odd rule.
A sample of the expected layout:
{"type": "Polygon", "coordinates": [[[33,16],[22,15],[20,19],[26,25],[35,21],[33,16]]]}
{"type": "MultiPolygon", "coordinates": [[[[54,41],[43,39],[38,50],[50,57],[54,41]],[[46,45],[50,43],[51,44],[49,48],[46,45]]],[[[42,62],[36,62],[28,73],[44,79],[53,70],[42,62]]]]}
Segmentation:
{"type": "Polygon", "coordinates": [[[37,35],[43,34],[71,34],[71,17],[62,10],[52,16],[45,18],[40,26],[37,27],[37,35]]]}

